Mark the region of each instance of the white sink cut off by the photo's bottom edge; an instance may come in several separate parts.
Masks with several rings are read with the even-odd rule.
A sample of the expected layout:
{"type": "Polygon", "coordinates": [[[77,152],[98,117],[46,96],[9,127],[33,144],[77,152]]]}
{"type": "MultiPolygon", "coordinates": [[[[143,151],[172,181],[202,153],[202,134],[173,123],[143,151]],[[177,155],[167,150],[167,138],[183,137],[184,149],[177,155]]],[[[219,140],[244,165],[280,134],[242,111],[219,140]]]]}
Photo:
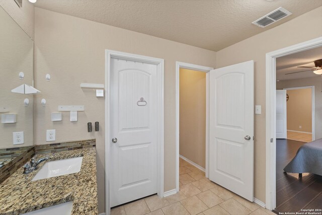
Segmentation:
{"type": "Polygon", "coordinates": [[[70,215],[72,210],[72,201],[67,201],[62,204],[57,204],[50,207],[45,207],[39,210],[34,210],[31,212],[27,212],[21,215],[70,215]]]}

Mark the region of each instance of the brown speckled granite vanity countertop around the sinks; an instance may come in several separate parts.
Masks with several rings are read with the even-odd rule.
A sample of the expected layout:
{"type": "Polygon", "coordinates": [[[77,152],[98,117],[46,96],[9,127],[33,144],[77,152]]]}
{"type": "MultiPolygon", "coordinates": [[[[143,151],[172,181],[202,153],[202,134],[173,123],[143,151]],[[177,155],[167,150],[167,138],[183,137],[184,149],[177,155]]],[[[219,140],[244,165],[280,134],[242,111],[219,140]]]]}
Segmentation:
{"type": "Polygon", "coordinates": [[[0,214],[21,214],[67,201],[73,201],[71,214],[98,214],[96,148],[37,155],[37,159],[52,157],[49,161],[54,161],[81,156],[81,171],[74,174],[31,181],[48,161],[27,175],[23,168],[18,169],[0,184],[0,214]]]}

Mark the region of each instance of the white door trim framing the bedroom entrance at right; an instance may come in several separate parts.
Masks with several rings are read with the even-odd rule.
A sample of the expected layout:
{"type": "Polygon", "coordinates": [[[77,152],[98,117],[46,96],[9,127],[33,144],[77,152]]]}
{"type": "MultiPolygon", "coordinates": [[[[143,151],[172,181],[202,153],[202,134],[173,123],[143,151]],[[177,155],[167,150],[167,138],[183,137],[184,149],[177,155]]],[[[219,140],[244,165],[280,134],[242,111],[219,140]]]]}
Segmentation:
{"type": "Polygon", "coordinates": [[[276,58],[322,46],[322,37],[266,53],[266,207],[276,207],[276,58]],[[272,139],[272,142],[271,142],[272,139]]]}

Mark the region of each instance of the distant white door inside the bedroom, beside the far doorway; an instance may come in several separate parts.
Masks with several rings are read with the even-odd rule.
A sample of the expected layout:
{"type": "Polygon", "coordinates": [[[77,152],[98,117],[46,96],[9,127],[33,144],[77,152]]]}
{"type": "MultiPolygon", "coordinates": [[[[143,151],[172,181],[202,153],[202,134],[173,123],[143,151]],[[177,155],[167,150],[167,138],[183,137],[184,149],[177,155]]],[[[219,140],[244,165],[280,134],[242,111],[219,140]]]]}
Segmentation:
{"type": "Polygon", "coordinates": [[[276,90],[276,138],[287,138],[286,90],[276,90]]]}

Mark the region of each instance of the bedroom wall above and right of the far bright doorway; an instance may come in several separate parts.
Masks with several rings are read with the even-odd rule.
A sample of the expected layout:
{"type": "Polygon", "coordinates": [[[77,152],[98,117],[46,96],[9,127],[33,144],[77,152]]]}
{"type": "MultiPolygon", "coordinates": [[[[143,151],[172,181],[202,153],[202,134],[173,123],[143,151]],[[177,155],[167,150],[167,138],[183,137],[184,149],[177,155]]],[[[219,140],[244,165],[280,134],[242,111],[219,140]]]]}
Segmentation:
{"type": "MultiPolygon", "coordinates": [[[[295,79],[279,81],[276,83],[276,89],[314,86],[314,133],[315,139],[322,138],[322,89],[320,78],[295,79]]],[[[290,100],[289,100],[290,101],[290,100]]]]}

